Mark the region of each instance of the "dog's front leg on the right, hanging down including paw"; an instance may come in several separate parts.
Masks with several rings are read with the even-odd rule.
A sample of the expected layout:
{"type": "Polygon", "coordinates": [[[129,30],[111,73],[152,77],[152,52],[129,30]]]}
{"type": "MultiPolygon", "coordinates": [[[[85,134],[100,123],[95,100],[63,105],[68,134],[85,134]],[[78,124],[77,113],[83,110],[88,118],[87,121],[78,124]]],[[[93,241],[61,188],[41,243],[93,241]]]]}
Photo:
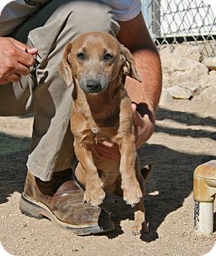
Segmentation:
{"type": "Polygon", "coordinates": [[[124,136],[120,146],[120,174],[123,198],[127,204],[134,206],[140,202],[142,192],[136,177],[135,163],[137,151],[134,135],[124,136]]]}

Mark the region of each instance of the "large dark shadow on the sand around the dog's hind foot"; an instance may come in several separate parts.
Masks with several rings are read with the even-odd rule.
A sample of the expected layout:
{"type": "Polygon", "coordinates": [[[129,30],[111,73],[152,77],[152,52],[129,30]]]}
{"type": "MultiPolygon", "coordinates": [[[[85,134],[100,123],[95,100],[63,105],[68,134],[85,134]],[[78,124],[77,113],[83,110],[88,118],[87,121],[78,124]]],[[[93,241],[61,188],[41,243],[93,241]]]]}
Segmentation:
{"type": "MultiPolygon", "coordinates": [[[[179,209],[193,191],[193,171],[201,163],[214,159],[214,156],[179,153],[165,146],[146,145],[141,149],[146,163],[155,160],[155,170],[147,184],[147,194],[157,191],[155,195],[145,196],[146,219],[149,232],[141,235],[141,240],[150,242],[158,238],[157,229],[165,216],[179,209]]],[[[110,232],[110,238],[120,235],[120,221],[134,219],[131,207],[117,198],[107,199],[107,208],[112,212],[112,219],[117,229],[110,232]],[[110,202],[109,202],[110,201],[110,202]],[[111,203],[112,202],[112,203],[111,203]]]]}

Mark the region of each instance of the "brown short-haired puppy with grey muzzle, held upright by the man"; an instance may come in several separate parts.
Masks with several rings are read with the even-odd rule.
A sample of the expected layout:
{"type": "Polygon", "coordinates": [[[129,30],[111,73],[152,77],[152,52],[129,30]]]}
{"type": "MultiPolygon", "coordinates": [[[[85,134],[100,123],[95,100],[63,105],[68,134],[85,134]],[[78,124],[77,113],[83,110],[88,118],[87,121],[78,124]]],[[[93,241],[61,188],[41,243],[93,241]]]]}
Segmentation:
{"type": "Polygon", "coordinates": [[[146,228],[145,179],[135,147],[131,100],[124,75],[140,78],[131,52],[107,33],[84,33],[64,49],[59,70],[72,93],[71,132],[78,166],[75,175],[85,186],[84,200],[98,206],[105,191],[122,195],[134,207],[134,230],[146,228]],[[120,161],[104,160],[96,153],[98,142],[119,146],[120,161]],[[120,190],[121,188],[121,190],[120,190]]]}

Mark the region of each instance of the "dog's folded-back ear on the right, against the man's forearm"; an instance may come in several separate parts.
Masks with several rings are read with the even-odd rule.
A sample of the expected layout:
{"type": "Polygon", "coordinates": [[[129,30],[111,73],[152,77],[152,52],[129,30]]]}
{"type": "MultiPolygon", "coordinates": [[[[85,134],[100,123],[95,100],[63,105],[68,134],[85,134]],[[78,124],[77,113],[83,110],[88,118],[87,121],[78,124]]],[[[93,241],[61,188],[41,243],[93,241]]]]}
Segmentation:
{"type": "Polygon", "coordinates": [[[134,57],[131,54],[131,51],[129,51],[126,47],[124,47],[124,45],[121,45],[120,54],[121,54],[121,58],[123,58],[123,61],[124,61],[124,65],[122,67],[124,75],[129,75],[133,79],[136,79],[139,82],[141,82],[141,78],[137,72],[134,57]]]}

